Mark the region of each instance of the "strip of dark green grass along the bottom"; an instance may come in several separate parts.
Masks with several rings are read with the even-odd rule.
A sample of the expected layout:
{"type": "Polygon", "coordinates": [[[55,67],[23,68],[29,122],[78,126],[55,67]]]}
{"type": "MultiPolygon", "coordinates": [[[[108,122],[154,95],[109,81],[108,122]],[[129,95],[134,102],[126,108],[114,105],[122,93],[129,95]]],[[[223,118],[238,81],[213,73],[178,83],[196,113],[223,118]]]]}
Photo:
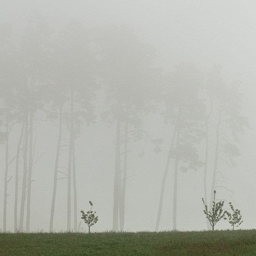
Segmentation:
{"type": "Polygon", "coordinates": [[[256,230],[0,233],[0,255],[256,255],[256,230]]]}

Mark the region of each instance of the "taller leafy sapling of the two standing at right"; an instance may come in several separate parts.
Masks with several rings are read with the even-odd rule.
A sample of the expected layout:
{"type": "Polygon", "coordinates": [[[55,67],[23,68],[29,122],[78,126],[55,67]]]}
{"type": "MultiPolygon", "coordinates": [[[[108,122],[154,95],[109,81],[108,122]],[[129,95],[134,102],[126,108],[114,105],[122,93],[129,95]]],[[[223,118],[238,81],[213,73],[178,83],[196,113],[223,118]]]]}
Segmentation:
{"type": "Polygon", "coordinates": [[[205,210],[203,210],[203,212],[205,213],[206,218],[209,220],[210,225],[212,226],[212,231],[214,231],[214,226],[216,225],[216,223],[225,216],[225,212],[222,214],[223,212],[222,207],[224,205],[224,201],[219,201],[216,203],[215,194],[216,194],[216,190],[214,190],[213,208],[211,211],[208,211],[208,206],[205,205],[205,201],[202,198],[203,205],[205,206],[205,210]]]}

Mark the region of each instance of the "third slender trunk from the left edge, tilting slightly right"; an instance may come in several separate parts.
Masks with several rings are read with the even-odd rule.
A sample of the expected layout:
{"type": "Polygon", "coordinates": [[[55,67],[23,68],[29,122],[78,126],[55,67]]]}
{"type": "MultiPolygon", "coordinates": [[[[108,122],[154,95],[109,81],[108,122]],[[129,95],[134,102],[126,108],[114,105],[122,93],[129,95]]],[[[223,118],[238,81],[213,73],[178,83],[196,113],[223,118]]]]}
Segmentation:
{"type": "Polygon", "coordinates": [[[27,179],[27,157],[28,157],[28,112],[24,114],[25,118],[25,133],[23,145],[23,178],[22,178],[22,192],[21,192],[21,205],[20,205],[20,223],[19,230],[23,231],[24,210],[26,200],[26,179],[27,179]]]}

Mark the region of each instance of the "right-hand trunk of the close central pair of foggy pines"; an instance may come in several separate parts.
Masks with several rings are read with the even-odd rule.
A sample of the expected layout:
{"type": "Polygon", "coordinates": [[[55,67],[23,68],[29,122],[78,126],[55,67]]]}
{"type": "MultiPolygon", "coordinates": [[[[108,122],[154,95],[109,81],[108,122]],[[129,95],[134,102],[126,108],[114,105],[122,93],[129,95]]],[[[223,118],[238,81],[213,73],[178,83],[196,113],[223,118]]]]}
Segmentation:
{"type": "MultiPolygon", "coordinates": [[[[128,113],[127,113],[128,115],[128,113]]],[[[128,157],[128,126],[129,121],[126,121],[124,129],[124,175],[122,183],[121,201],[119,206],[119,221],[120,230],[124,230],[124,213],[125,213],[125,193],[126,193],[126,179],[127,179],[127,157],[128,157]]]]}

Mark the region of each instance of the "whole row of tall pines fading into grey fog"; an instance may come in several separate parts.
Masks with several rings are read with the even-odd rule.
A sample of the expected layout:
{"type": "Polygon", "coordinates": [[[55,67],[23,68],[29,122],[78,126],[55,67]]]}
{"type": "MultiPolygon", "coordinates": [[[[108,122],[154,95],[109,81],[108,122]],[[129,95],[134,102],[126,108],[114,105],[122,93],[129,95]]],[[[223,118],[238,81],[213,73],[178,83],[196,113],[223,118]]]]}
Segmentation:
{"type": "MultiPolygon", "coordinates": [[[[161,151],[162,140],[152,138],[144,129],[147,114],[161,115],[171,138],[159,188],[155,230],[159,230],[168,172],[174,173],[173,229],[177,228],[179,171],[204,169],[206,204],[207,198],[213,201],[215,188],[228,189],[221,184],[225,180],[221,166],[235,167],[235,158],[240,154],[238,135],[248,127],[248,120],[241,115],[239,82],[226,84],[218,66],[203,74],[190,63],[178,64],[164,74],[155,64],[155,56],[155,50],[141,43],[126,26],[88,29],[70,21],[55,31],[46,18],[34,16],[17,43],[12,41],[12,26],[2,24],[3,231],[7,230],[9,193],[15,195],[14,205],[8,207],[14,213],[14,230],[30,230],[33,170],[47,155],[40,152],[33,132],[39,119],[58,122],[49,230],[54,229],[59,179],[67,184],[67,230],[71,230],[71,222],[74,231],[78,230],[76,140],[84,132],[84,125],[98,120],[95,107],[99,93],[104,95],[101,120],[116,131],[113,230],[124,230],[127,163],[132,161],[130,141],[150,140],[155,152],[161,151]],[[211,186],[207,186],[207,175],[212,176],[211,186]],[[14,191],[8,190],[10,182],[15,183],[14,191]]],[[[151,121],[154,124],[154,119],[151,121]]]]}

